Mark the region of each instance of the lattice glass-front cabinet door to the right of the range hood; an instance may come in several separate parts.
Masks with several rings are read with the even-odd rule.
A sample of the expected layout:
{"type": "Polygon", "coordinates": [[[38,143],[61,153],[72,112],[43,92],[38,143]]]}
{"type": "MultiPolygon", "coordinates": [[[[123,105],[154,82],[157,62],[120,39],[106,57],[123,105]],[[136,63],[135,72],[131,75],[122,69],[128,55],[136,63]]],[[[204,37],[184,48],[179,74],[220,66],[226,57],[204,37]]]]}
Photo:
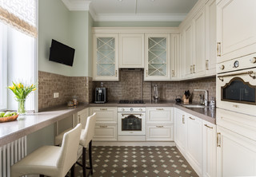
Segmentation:
{"type": "Polygon", "coordinates": [[[145,81],[170,80],[170,34],[146,34],[145,81]]]}

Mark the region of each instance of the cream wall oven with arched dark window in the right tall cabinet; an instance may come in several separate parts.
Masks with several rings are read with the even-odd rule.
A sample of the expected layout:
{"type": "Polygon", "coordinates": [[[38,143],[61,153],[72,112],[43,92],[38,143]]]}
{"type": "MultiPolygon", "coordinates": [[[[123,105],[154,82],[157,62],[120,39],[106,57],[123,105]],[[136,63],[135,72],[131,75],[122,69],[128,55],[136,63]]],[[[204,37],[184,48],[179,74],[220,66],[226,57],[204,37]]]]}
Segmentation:
{"type": "Polygon", "coordinates": [[[256,116],[256,54],[218,64],[217,107],[256,116]]]}

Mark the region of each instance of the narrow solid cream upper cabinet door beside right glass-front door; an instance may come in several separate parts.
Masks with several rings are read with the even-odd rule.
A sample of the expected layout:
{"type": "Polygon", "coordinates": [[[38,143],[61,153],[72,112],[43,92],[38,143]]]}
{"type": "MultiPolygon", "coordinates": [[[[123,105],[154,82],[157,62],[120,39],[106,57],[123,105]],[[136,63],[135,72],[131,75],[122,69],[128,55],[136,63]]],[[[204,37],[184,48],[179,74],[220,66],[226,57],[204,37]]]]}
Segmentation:
{"type": "Polygon", "coordinates": [[[171,80],[180,79],[180,35],[179,33],[170,34],[170,78],[171,80]]]}

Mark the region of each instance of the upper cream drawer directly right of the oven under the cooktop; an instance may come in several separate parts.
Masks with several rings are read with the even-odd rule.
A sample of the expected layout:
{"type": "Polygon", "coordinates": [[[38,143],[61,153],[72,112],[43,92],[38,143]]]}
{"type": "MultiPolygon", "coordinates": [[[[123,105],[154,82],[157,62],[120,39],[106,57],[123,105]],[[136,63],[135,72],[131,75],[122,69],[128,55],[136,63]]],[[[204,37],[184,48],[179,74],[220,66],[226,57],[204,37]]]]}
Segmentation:
{"type": "Polygon", "coordinates": [[[173,124],[173,108],[146,108],[146,124],[173,124]]]}

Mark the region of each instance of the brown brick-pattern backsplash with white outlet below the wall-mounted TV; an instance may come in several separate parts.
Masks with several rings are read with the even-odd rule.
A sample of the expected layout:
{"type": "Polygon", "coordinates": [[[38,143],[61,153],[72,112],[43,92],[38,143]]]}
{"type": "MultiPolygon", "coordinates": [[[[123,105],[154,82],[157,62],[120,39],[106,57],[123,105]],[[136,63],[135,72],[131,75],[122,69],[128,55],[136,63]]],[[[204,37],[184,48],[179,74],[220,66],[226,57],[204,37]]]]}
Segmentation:
{"type": "Polygon", "coordinates": [[[66,77],[54,73],[38,72],[38,108],[66,104],[74,96],[79,102],[89,103],[91,77],[66,77]],[[59,92],[59,97],[54,98],[54,92],[59,92]]]}

